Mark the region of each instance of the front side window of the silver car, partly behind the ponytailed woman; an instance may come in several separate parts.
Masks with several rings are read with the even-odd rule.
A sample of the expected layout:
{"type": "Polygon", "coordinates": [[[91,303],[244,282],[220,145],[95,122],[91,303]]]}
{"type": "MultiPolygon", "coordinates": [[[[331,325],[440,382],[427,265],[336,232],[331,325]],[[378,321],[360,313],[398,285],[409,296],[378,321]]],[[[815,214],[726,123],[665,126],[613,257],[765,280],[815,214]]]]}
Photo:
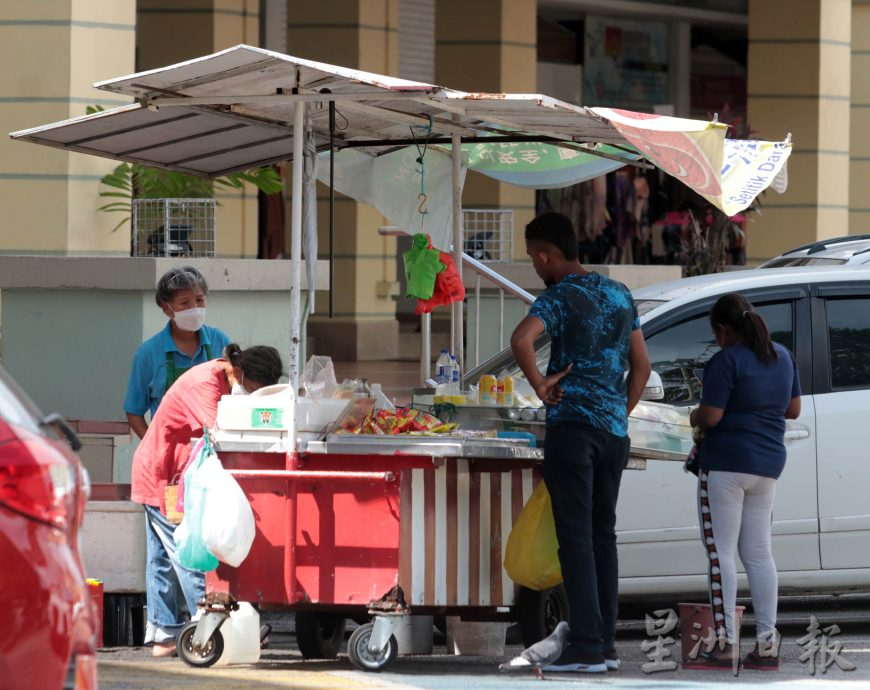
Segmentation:
{"type": "MultiPolygon", "coordinates": [[[[792,303],[756,306],[770,329],[771,338],[794,352],[792,303]]],[[[704,366],[719,351],[707,313],[669,326],[646,339],[650,363],[662,377],[663,402],[692,404],[701,399],[704,366]]]]}

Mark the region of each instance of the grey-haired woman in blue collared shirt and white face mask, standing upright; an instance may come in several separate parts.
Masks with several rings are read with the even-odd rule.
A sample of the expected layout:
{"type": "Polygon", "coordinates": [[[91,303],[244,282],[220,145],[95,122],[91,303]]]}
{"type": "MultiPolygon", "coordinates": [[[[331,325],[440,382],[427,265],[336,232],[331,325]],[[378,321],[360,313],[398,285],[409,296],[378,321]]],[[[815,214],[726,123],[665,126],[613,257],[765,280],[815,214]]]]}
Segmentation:
{"type": "Polygon", "coordinates": [[[169,318],[133,356],[124,398],[130,428],[139,438],[148,430],[145,413],[154,412],[169,387],[191,367],[217,359],[230,339],[204,325],[208,284],[193,266],[176,266],[157,282],[154,299],[169,318]]]}

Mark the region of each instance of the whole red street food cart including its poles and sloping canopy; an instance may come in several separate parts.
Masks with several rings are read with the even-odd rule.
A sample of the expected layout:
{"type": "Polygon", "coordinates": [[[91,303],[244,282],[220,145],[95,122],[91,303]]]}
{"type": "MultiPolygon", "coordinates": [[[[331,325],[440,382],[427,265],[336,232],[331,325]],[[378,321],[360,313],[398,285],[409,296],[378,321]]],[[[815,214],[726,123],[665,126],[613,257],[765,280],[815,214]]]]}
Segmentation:
{"type": "MultiPolygon", "coordinates": [[[[428,204],[451,207],[460,274],[463,144],[545,141],[613,158],[598,148],[607,144],[626,154],[616,156],[619,165],[643,156],[726,212],[775,185],[791,148],[789,141],[729,145],[727,128],[716,122],[584,108],[541,95],[465,93],[249,46],[95,86],[136,102],[12,137],[209,177],[292,159],[290,391],[298,391],[301,370],[306,130],[321,151],[358,148],[377,156],[410,145],[409,127],[424,124],[428,143],[449,144],[450,198],[428,204]],[[338,131],[336,109],[346,121],[338,131]]],[[[453,307],[452,349],[462,364],[461,303],[453,307]]],[[[504,547],[539,480],[541,451],[529,440],[497,434],[516,428],[505,419],[521,419],[506,412],[493,422],[489,414],[487,429],[470,430],[488,434],[326,433],[301,441],[293,393],[283,413],[281,428],[270,433],[217,434],[224,466],[250,499],[257,534],[238,568],[221,565],[208,576],[204,615],[179,640],[185,661],[205,666],[220,657],[219,628],[239,601],[291,609],[300,619],[316,614],[313,628],[324,634],[315,634],[311,649],[324,656],[336,651],[327,644],[327,616],[373,615],[349,647],[353,662],[368,670],[395,658],[393,632],[408,615],[517,618],[520,602],[502,567],[504,547]]],[[[636,445],[633,466],[681,458],[684,445],[685,434],[676,445],[636,445]]]]}

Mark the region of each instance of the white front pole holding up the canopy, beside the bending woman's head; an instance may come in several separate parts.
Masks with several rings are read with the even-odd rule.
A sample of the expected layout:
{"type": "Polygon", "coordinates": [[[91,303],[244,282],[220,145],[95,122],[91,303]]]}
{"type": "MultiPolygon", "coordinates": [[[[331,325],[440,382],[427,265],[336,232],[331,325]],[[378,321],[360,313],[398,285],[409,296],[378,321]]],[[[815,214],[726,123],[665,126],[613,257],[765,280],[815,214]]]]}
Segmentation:
{"type": "MultiPolygon", "coordinates": [[[[299,346],[302,330],[302,145],[305,139],[305,102],[298,101],[293,111],[293,166],[290,210],[290,387],[294,398],[299,392],[299,346]]],[[[289,449],[296,450],[296,406],[290,416],[289,449]]]]}

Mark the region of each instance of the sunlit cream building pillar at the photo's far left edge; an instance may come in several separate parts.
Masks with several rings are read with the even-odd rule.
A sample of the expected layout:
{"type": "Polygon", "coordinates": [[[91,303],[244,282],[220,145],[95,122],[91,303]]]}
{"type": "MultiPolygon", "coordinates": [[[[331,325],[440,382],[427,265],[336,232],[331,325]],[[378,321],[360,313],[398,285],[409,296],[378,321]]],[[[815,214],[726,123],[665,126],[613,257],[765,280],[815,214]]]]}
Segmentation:
{"type": "MultiPolygon", "coordinates": [[[[0,127],[4,132],[111,108],[129,99],[92,84],[133,71],[135,0],[0,4],[0,127]]],[[[116,163],[0,138],[0,252],[127,254],[118,217],[99,213],[100,178],[116,163]]]]}

